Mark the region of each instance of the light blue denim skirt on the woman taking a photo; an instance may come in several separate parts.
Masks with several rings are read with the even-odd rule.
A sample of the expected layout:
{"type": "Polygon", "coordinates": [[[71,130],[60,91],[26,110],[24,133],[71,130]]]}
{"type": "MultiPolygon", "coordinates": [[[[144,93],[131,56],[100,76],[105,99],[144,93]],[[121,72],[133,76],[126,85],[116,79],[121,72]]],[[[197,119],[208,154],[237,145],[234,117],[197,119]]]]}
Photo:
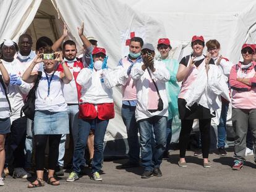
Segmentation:
{"type": "Polygon", "coordinates": [[[69,134],[69,117],[67,111],[35,111],[35,135],[69,134]]]}

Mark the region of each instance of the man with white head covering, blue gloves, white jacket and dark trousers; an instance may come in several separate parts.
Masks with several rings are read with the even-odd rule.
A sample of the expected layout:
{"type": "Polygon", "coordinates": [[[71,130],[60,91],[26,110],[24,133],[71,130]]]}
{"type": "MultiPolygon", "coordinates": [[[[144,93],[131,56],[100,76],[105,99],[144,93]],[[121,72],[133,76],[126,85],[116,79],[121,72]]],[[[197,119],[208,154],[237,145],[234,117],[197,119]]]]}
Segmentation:
{"type": "Polygon", "coordinates": [[[18,46],[12,40],[6,40],[1,44],[2,64],[10,75],[9,93],[11,103],[11,134],[6,138],[6,164],[14,177],[28,178],[31,175],[23,169],[25,166],[25,138],[27,132],[27,119],[20,117],[20,111],[24,105],[23,99],[30,91],[30,84],[21,79],[23,67],[14,58],[18,46]]]}

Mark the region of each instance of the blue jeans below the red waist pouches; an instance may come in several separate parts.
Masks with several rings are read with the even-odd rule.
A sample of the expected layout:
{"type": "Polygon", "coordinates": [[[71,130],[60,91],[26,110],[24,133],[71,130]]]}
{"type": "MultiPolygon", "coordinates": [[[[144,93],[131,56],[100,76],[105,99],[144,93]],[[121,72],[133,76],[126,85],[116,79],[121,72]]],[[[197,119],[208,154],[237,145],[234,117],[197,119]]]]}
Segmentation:
{"type": "Polygon", "coordinates": [[[85,146],[87,145],[88,135],[91,127],[94,125],[94,155],[92,164],[92,173],[99,172],[103,162],[103,144],[108,127],[109,120],[96,119],[79,119],[78,123],[78,138],[75,144],[73,155],[73,171],[80,173],[80,165],[82,165],[84,159],[85,146]]]}

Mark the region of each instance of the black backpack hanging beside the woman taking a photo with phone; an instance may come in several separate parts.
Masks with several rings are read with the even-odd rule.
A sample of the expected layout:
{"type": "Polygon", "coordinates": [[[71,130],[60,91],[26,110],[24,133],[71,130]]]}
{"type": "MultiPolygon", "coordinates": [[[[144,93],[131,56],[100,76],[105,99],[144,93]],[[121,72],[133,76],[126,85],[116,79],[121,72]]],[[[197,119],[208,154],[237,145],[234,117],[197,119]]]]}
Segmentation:
{"type": "Polygon", "coordinates": [[[24,113],[25,117],[28,119],[34,120],[35,117],[35,93],[36,88],[38,87],[39,81],[42,77],[42,72],[38,72],[35,85],[32,87],[32,89],[28,92],[28,95],[24,101],[24,106],[22,107],[20,111],[20,117],[22,117],[22,112],[24,113]]]}

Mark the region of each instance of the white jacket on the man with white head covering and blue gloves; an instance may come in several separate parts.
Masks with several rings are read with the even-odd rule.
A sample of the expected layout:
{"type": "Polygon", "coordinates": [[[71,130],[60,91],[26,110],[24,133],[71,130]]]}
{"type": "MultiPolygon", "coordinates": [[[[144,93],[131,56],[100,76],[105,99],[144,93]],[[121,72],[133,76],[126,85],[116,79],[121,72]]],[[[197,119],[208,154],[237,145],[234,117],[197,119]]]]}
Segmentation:
{"type": "MultiPolygon", "coordinates": [[[[12,62],[6,62],[2,60],[2,64],[4,64],[4,67],[6,68],[7,72],[9,74],[16,74],[20,77],[20,80],[22,81],[22,74],[23,74],[23,66],[20,64],[17,59],[14,59],[12,62]]],[[[20,86],[18,85],[9,85],[8,90],[9,93],[7,94],[11,107],[11,122],[13,122],[16,119],[20,118],[20,110],[24,105],[23,99],[27,96],[28,92],[30,91],[31,85],[29,83],[25,83],[25,81],[22,81],[22,84],[20,86]]]]}

